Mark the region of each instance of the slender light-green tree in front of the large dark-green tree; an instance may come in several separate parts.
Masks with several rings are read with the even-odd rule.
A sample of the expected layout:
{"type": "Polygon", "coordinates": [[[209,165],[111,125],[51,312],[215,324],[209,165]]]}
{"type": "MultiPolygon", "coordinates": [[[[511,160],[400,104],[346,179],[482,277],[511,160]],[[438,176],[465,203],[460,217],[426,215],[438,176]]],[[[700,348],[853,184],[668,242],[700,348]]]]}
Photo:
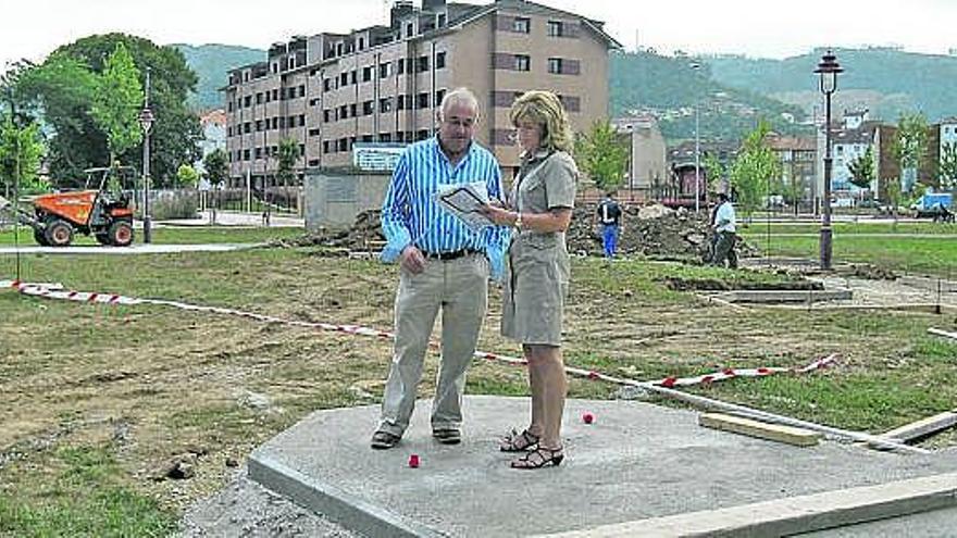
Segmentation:
{"type": "Polygon", "coordinates": [[[139,111],[144,104],[139,70],[123,41],[116,43],[107,59],[102,74],[97,78],[97,91],[90,115],[107,137],[110,165],[126,150],[142,141],[139,111]]]}

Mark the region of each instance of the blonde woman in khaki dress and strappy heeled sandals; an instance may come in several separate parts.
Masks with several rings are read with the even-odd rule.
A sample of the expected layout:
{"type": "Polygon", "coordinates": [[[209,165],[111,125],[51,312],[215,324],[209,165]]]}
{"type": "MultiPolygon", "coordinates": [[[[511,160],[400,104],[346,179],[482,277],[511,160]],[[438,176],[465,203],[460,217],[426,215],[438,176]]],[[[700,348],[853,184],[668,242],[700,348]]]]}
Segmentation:
{"type": "Polygon", "coordinates": [[[561,355],[561,315],[570,275],[564,232],[572,218],[577,170],[568,114],[555,93],[529,91],[512,105],[522,164],[509,208],[486,207],[496,224],[514,227],[506,259],[501,334],[522,342],[532,387],[532,422],[500,445],[523,452],[515,468],[559,465],[568,380],[561,355]]]}

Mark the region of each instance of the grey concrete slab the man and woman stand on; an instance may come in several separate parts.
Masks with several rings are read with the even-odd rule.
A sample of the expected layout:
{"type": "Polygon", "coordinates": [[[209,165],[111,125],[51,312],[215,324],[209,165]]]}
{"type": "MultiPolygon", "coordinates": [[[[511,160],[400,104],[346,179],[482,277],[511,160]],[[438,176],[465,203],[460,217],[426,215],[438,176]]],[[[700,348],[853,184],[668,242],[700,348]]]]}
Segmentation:
{"type": "Polygon", "coordinates": [[[957,450],[898,455],[824,442],[797,448],[703,428],[697,413],[570,400],[557,468],[515,471],[497,439],[525,398],[469,397],[463,443],[436,443],[427,400],[402,442],[373,451],[378,408],[316,412],[249,460],[249,474],[369,536],[533,536],[716,510],[957,471],[957,450]],[[596,421],[586,425],[584,412],[596,421]],[[410,454],[421,467],[410,468],[410,454]]]}

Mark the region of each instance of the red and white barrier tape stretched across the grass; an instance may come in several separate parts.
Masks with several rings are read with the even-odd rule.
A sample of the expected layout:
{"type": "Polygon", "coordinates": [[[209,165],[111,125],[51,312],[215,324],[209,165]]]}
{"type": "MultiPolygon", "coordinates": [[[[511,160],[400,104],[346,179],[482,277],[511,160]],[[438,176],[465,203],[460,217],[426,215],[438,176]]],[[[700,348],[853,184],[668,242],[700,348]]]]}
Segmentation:
{"type": "MultiPolygon", "coordinates": [[[[201,306],[197,304],[189,304],[185,302],[178,301],[166,301],[161,299],[136,299],[132,297],[125,297],[113,293],[95,293],[88,291],[67,291],[63,289],[63,286],[60,284],[27,284],[21,283],[17,280],[0,280],[0,289],[4,288],[14,288],[18,290],[21,293],[33,296],[33,297],[42,297],[46,299],[60,299],[65,301],[76,301],[76,302],[92,302],[92,303],[101,303],[101,304],[123,304],[123,305],[136,305],[136,304],[157,304],[162,306],[172,306],[181,310],[188,310],[192,312],[210,312],[213,314],[225,314],[225,315],[238,315],[243,317],[248,317],[250,320],[257,320],[260,322],[266,323],[282,323],[285,325],[293,325],[297,327],[306,327],[306,328],[318,328],[322,330],[332,330],[337,333],[345,333],[348,335],[358,335],[358,336],[371,336],[376,338],[388,338],[391,339],[395,335],[393,333],[388,333],[385,330],[377,330],[370,327],[363,327],[360,325],[335,325],[331,323],[322,323],[322,322],[298,322],[291,320],[284,320],[282,317],[275,317],[271,315],[256,314],[252,312],[245,312],[241,310],[234,309],[224,309],[219,306],[201,306]]],[[[438,349],[440,345],[438,342],[430,342],[430,347],[433,349],[438,349]]],[[[487,359],[490,361],[498,361],[507,364],[526,364],[524,359],[504,355],[499,353],[488,353],[485,351],[475,351],[475,356],[478,359],[487,359]]],[[[735,377],[767,377],[773,374],[783,374],[783,373],[795,373],[795,374],[804,374],[808,372],[813,372],[816,370],[825,368],[832,363],[836,361],[836,355],[831,354],[823,359],[818,359],[817,361],[811,362],[807,366],[800,368],[784,368],[784,367],[761,367],[761,368],[724,368],[720,372],[713,372],[711,374],[705,374],[693,377],[666,377],[663,379],[652,380],[652,381],[635,381],[634,379],[624,379],[620,377],[614,377],[606,374],[601,374],[599,372],[595,372],[592,370],[582,370],[572,366],[567,366],[566,371],[569,374],[587,377],[588,379],[595,380],[604,380],[618,385],[635,385],[635,384],[644,384],[644,385],[656,385],[666,388],[673,387],[687,387],[692,385],[708,385],[716,381],[723,381],[726,379],[733,379],[735,377]]]]}

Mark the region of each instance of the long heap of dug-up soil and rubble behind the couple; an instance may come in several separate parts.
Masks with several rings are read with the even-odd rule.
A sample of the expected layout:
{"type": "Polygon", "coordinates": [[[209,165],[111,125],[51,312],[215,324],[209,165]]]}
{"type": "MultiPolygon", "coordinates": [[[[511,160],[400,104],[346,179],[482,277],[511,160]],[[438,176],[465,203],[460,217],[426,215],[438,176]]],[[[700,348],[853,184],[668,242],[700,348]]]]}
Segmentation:
{"type": "MultiPolygon", "coordinates": [[[[623,230],[618,249],[622,254],[643,254],[658,259],[700,260],[708,248],[708,215],[695,214],[684,208],[672,210],[660,204],[623,204],[623,230]]],[[[596,205],[586,203],[575,208],[568,230],[569,251],[601,255],[601,229],[595,221],[596,205]]],[[[378,210],[359,213],[356,223],[347,229],[320,228],[295,239],[276,241],[279,247],[323,246],[348,251],[376,251],[385,236],[380,224],[378,210]]],[[[750,255],[754,249],[738,240],[738,254],[750,255]]]]}

